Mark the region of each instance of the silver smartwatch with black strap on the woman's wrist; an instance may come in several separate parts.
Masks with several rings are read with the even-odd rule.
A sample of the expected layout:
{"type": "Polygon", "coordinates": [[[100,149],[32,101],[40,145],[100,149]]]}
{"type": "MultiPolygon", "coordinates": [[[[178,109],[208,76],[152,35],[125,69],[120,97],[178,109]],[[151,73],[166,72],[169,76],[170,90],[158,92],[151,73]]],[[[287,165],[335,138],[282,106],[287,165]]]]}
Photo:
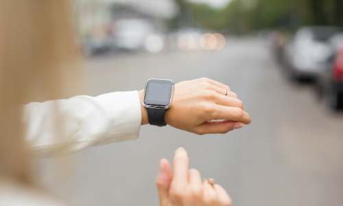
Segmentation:
{"type": "Polygon", "coordinates": [[[147,109],[149,124],[166,126],[165,112],[171,106],[174,82],[166,79],[149,79],[145,84],[143,106],[147,109]]]}

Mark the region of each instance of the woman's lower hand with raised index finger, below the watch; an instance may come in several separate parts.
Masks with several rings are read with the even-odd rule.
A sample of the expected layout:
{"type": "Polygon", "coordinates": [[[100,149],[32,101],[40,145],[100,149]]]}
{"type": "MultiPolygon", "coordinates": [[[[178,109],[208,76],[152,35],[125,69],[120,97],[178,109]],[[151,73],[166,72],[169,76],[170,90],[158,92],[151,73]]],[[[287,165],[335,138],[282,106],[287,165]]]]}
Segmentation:
{"type": "Polygon", "coordinates": [[[230,206],[232,201],[220,185],[202,183],[200,173],[188,169],[189,159],[184,148],[178,148],[174,157],[174,175],[167,159],[161,159],[156,178],[160,206],[230,206]]]}

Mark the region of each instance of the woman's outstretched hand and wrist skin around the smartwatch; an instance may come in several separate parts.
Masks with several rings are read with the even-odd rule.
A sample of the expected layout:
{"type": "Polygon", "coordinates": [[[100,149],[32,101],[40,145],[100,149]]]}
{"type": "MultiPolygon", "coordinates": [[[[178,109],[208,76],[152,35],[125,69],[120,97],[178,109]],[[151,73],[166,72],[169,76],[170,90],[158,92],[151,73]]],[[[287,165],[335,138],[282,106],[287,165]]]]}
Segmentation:
{"type": "MultiPolygon", "coordinates": [[[[142,101],[144,90],[139,95],[142,101]]],[[[207,78],[176,84],[171,108],[165,113],[166,124],[198,135],[224,134],[250,122],[243,103],[230,87],[207,78]],[[213,121],[217,119],[225,120],[213,121]]],[[[142,124],[148,124],[143,105],[142,124]]]]}

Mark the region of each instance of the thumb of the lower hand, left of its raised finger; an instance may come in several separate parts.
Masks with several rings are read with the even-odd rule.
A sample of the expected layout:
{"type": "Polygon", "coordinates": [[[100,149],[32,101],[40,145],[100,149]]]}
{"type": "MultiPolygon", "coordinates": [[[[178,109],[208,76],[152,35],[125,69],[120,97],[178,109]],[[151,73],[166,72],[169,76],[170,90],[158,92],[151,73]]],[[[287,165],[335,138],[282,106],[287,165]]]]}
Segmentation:
{"type": "Polygon", "coordinates": [[[168,199],[169,185],[171,183],[171,168],[170,163],[167,159],[161,159],[160,161],[160,172],[156,177],[156,185],[158,189],[158,195],[160,196],[160,202],[165,203],[168,199]]]}

